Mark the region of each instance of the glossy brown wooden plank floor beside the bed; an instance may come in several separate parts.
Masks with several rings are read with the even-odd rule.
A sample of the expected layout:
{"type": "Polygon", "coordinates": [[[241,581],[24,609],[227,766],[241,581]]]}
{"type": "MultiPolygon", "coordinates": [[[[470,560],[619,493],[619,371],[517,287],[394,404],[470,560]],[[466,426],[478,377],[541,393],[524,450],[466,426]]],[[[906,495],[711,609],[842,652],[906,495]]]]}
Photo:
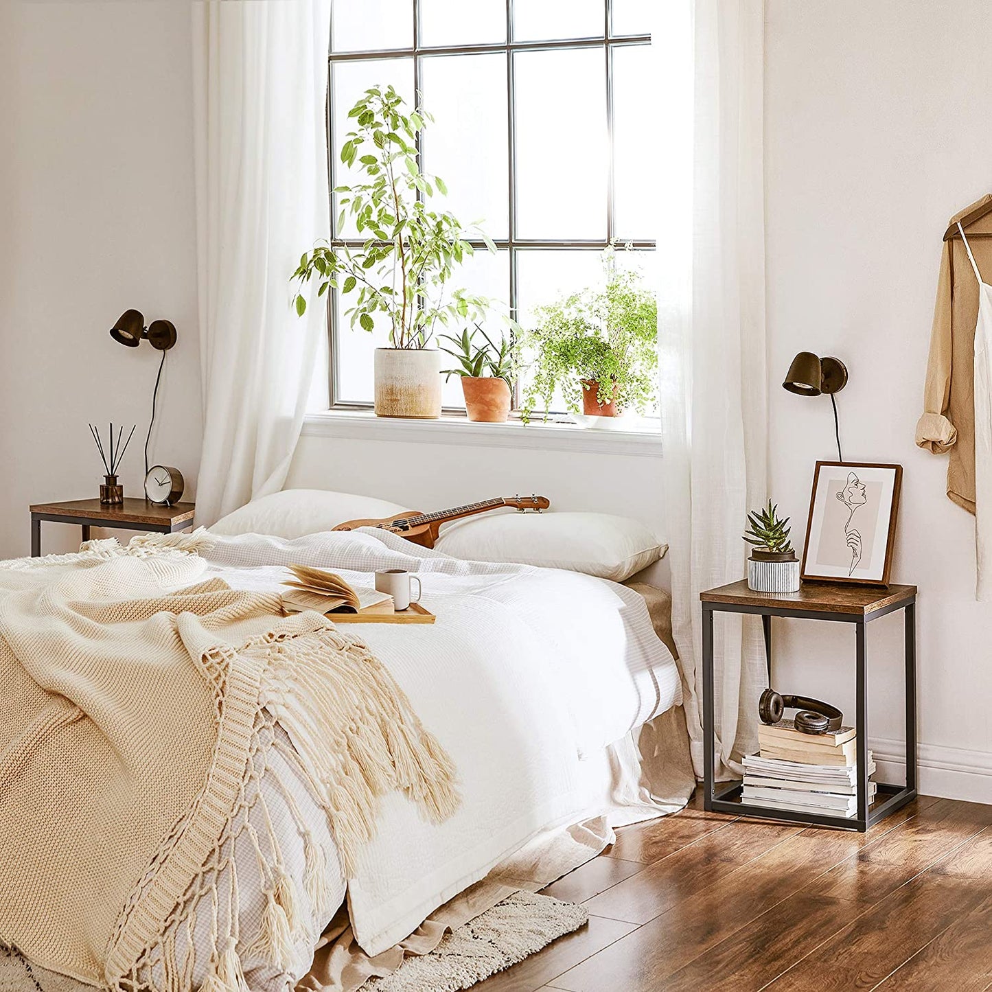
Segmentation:
{"type": "Polygon", "coordinates": [[[864,834],[695,799],[545,891],[588,926],[480,992],[992,989],[992,806],[922,797],[864,834]]]}

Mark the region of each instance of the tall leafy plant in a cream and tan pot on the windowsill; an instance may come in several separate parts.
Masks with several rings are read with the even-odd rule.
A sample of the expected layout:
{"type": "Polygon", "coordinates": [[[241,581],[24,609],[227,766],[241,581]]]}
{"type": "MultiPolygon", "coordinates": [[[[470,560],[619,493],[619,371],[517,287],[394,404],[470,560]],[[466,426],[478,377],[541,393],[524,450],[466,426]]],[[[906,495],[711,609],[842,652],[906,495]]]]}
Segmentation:
{"type": "Polygon", "coordinates": [[[473,254],[470,238],[495,245],[480,230],[431,207],[446,194],[443,181],[421,171],[418,135],[432,120],[410,110],[392,86],[373,86],[348,112],[355,121],[341,146],[341,162],[361,179],[336,186],[336,236],[305,252],[293,273],[294,304],[307,310],[305,284],[314,276],[317,297],[331,287],[354,302],[344,311],[351,327],[372,331],[376,314],[389,322],[388,348],[375,352],[375,412],[379,417],[440,416],[440,352],[429,347],[437,324],[479,318],[488,301],[450,289],[456,267],[473,254]],[[361,248],[342,238],[350,214],[361,248]],[[351,295],[354,294],[352,297],[351,295]]]}

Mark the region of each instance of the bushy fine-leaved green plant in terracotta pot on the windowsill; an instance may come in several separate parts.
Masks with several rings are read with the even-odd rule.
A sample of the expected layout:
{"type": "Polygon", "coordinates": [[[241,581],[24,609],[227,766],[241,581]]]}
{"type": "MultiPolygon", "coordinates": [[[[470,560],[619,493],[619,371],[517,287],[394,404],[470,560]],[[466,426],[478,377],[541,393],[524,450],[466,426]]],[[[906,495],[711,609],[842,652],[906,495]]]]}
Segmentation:
{"type": "Polygon", "coordinates": [[[535,309],[536,324],[517,345],[532,357],[521,414],[545,420],[556,391],[573,414],[617,417],[654,404],[658,378],[658,307],[636,272],[617,272],[607,254],[602,290],[585,289],[535,309]]]}

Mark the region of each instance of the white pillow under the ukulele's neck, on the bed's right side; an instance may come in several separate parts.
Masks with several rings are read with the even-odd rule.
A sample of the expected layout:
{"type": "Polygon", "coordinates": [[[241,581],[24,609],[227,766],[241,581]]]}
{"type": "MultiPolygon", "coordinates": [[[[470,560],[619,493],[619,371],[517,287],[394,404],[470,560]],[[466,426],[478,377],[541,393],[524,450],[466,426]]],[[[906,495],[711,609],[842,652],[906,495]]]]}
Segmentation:
{"type": "Polygon", "coordinates": [[[669,546],[639,521],[609,513],[489,513],[449,525],[434,547],[468,561],[516,561],[622,582],[669,546]]]}

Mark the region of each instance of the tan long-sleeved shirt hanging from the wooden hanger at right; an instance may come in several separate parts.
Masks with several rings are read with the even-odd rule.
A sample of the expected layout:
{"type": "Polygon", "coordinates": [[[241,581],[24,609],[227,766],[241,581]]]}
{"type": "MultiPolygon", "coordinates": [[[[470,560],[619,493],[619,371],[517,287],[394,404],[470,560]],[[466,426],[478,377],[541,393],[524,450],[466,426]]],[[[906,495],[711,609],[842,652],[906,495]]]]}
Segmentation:
{"type": "MultiPolygon", "coordinates": [[[[992,201],[992,193],[958,211],[954,223],[975,207],[992,201]]],[[[978,271],[992,282],[992,213],[965,232],[978,271]]],[[[969,513],[975,512],[975,321],[978,285],[960,238],[943,243],[940,275],[930,333],[930,361],[924,387],[924,414],[917,423],[917,444],[934,454],[949,452],[947,496],[969,513]]]]}

